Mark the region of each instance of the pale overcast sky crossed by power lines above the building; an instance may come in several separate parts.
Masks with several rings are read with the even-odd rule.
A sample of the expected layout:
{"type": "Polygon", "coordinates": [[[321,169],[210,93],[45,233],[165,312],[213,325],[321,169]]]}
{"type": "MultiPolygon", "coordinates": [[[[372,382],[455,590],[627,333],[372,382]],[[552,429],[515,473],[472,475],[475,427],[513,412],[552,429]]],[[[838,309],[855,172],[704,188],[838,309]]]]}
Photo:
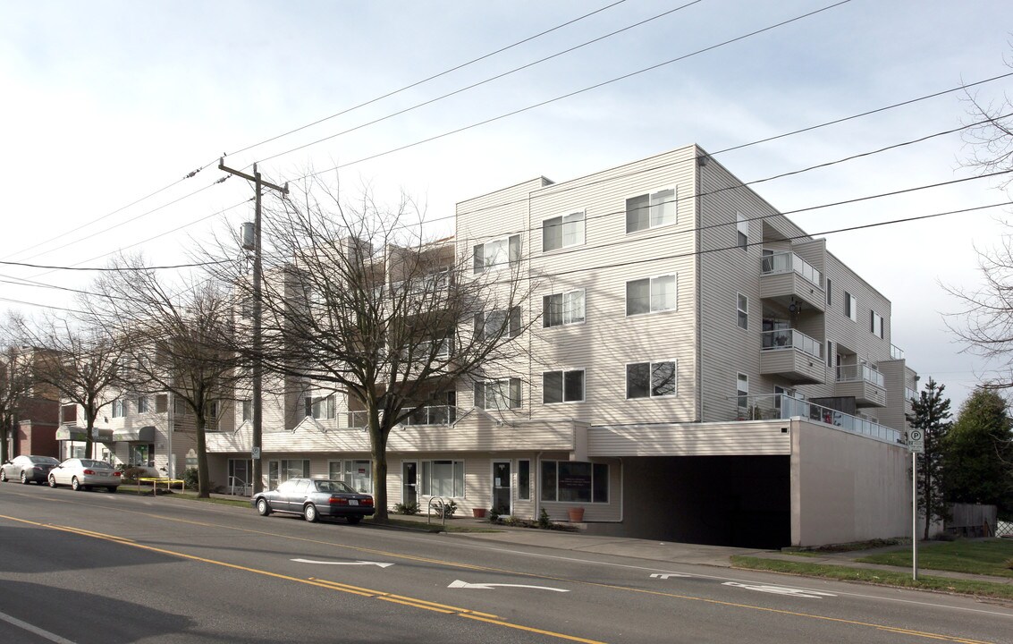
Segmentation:
{"type": "MultiPolygon", "coordinates": [[[[467,198],[690,143],[753,182],[936,135],[969,120],[959,92],[719,152],[1013,71],[1009,3],[998,0],[612,1],[0,0],[0,260],[94,267],[128,248],[178,263],[191,238],[250,217],[248,185],[214,184],[223,153],[279,183],[340,166],[345,186],[412,195],[439,234],[467,198]]],[[[1013,80],[976,91],[1000,98],[1013,80]]],[[[754,188],[790,212],[972,176],[967,155],[954,133],[754,188]]],[[[1009,201],[996,184],[789,215],[892,301],[893,344],[923,383],[946,385],[954,411],[989,365],[946,330],[957,304],[941,285],[980,283],[976,246],[1001,241],[1009,207],[822,233],[1009,201]]],[[[0,265],[0,310],[70,306],[43,284],[87,288],[93,277],[0,265]],[[24,279],[34,283],[15,284],[24,279]]]]}

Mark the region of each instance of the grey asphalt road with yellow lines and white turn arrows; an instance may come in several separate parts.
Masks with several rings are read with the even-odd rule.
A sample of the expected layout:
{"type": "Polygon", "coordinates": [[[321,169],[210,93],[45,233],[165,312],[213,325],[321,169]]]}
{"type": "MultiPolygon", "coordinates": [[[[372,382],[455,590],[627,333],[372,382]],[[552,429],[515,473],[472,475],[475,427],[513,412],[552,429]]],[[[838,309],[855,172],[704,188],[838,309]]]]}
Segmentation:
{"type": "Polygon", "coordinates": [[[1013,642],[1013,606],[0,485],[0,642],[1013,642]]]}

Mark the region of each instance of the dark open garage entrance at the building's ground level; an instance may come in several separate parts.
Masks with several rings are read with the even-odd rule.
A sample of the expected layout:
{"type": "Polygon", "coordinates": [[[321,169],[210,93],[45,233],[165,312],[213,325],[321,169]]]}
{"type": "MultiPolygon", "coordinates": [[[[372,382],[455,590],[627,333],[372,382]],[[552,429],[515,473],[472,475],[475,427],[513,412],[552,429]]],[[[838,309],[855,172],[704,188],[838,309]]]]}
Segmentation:
{"type": "Polygon", "coordinates": [[[624,458],[622,532],[683,544],[790,546],[790,457],[624,458]]]}

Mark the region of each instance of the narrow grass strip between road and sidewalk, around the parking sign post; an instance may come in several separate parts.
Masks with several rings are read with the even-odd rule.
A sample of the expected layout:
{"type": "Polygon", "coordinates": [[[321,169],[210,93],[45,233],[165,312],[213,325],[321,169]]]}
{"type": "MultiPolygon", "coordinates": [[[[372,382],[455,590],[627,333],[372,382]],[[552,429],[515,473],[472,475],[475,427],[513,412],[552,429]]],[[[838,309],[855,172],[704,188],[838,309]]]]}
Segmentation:
{"type": "Polygon", "coordinates": [[[999,597],[1013,599],[1013,585],[977,581],[969,579],[951,579],[948,577],[919,576],[912,579],[911,573],[891,570],[870,570],[867,568],[850,568],[846,566],[830,566],[827,564],[809,564],[780,559],[765,559],[763,557],[732,556],[731,565],[735,568],[750,570],[768,570],[807,577],[825,577],[842,581],[858,581],[862,583],[895,586],[899,588],[915,588],[918,590],[936,590],[979,597],[999,597]]]}

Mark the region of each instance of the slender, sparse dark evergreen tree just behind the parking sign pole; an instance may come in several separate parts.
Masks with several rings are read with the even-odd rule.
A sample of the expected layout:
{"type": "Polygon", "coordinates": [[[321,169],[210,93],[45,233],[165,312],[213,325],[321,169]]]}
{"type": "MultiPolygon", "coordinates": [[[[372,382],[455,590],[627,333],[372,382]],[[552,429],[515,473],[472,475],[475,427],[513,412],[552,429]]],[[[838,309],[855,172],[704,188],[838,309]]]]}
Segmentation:
{"type": "Polygon", "coordinates": [[[918,454],[918,506],[919,514],[925,517],[925,535],[929,538],[929,526],[933,520],[946,518],[943,496],[943,443],[952,423],[950,401],[943,399],[945,384],[929,378],[925,390],[911,404],[914,414],[908,415],[908,422],[914,429],[921,429],[925,435],[925,453],[918,454]]]}

